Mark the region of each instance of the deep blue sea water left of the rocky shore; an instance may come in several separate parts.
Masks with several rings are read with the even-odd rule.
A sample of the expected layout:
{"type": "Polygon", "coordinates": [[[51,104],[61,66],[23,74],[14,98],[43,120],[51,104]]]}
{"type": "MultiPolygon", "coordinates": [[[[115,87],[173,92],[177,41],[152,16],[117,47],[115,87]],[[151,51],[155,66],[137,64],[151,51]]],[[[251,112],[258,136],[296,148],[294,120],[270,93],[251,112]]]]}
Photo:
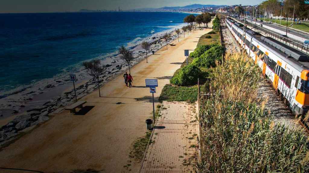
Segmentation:
{"type": "Polygon", "coordinates": [[[80,62],[183,23],[188,14],[106,12],[0,14],[0,93],[52,78],[80,62]]]}

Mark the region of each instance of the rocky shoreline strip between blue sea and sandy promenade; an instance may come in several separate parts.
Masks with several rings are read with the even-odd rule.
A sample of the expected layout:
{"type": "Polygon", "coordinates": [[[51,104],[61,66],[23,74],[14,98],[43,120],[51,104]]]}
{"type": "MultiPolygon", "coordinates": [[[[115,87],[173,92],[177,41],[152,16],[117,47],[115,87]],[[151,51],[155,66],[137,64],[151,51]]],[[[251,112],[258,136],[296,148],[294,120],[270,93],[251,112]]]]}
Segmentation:
{"type": "MultiPolygon", "coordinates": [[[[176,26],[176,28],[181,26],[176,26]]],[[[165,41],[161,39],[163,34],[172,34],[167,43],[175,40],[177,34],[175,34],[174,30],[175,28],[165,30],[143,39],[142,41],[146,40],[151,43],[148,56],[151,55],[151,51],[156,52],[163,46],[166,46],[165,41]],[[155,39],[153,39],[154,37],[155,39]]],[[[133,52],[135,57],[130,64],[131,67],[146,59],[146,53],[142,49],[141,44],[134,46],[130,51],[133,52]]],[[[100,87],[128,70],[128,65],[120,59],[119,55],[112,54],[114,56],[101,60],[101,63],[106,68],[99,78],[100,87]]],[[[0,99],[0,105],[2,106],[0,110],[0,114],[2,115],[0,117],[0,132],[3,134],[5,131],[5,134],[3,134],[5,137],[0,139],[0,146],[7,141],[14,140],[19,131],[49,120],[50,115],[60,113],[64,110],[65,106],[74,103],[74,90],[72,82],[68,79],[68,73],[41,80],[18,93],[0,99]],[[15,130],[13,127],[18,128],[15,130]]],[[[97,90],[96,81],[89,77],[82,67],[76,70],[74,74],[79,79],[75,84],[78,99],[97,90]]]]}

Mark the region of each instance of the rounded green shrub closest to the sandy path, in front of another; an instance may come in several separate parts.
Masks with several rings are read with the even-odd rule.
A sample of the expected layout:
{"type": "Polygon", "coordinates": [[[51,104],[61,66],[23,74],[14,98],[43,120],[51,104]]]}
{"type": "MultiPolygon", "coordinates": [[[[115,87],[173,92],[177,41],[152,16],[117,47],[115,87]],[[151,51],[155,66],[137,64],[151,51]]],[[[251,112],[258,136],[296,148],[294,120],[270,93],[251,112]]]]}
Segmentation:
{"type": "Polygon", "coordinates": [[[202,74],[201,70],[193,65],[189,64],[176,71],[170,82],[174,85],[189,86],[197,83],[197,78],[202,74]]]}

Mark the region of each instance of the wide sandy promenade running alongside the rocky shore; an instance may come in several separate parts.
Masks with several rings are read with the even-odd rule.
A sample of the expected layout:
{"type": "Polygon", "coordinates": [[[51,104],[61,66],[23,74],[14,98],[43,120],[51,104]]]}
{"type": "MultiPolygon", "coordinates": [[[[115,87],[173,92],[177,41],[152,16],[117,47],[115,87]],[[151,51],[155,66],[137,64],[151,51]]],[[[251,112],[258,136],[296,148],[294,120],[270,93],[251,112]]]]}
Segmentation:
{"type": "MultiPolygon", "coordinates": [[[[122,172],[128,164],[130,146],[146,132],[145,120],[152,115],[152,97],[145,88],[146,78],[158,78],[156,104],[169,78],[185,60],[184,49],[195,49],[201,35],[211,29],[197,30],[173,41],[131,69],[133,85],[126,87],[121,76],[81,100],[89,108],[86,115],[63,111],[31,133],[22,136],[0,152],[0,167],[43,172],[71,172],[93,169],[122,172]],[[121,102],[121,104],[116,104],[121,102]]],[[[137,172],[141,163],[130,163],[137,172]]],[[[0,172],[25,172],[0,170],[0,172]]]]}

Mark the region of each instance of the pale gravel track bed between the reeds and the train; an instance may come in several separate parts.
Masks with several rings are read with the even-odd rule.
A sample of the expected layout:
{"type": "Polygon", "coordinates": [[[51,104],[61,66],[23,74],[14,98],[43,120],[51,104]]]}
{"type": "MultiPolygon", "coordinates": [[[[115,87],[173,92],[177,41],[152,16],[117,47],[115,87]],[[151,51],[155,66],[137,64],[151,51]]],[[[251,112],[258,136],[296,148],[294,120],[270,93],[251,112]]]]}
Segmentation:
{"type": "MultiPolygon", "coordinates": [[[[222,46],[225,47],[225,53],[240,52],[240,45],[236,42],[223,20],[220,22],[220,27],[223,40],[222,46]]],[[[270,115],[273,115],[275,124],[283,124],[289,129],[303,128],[299,125],[298,121],[295,119],[295,115],[290,111],[288,106],[277,95],[276,91],[273,90],[273,86],[270,85],[262,74],[258,85],[256,100],[260,105],[265,104],[264,109],[268,111],[270,115]]]]}

